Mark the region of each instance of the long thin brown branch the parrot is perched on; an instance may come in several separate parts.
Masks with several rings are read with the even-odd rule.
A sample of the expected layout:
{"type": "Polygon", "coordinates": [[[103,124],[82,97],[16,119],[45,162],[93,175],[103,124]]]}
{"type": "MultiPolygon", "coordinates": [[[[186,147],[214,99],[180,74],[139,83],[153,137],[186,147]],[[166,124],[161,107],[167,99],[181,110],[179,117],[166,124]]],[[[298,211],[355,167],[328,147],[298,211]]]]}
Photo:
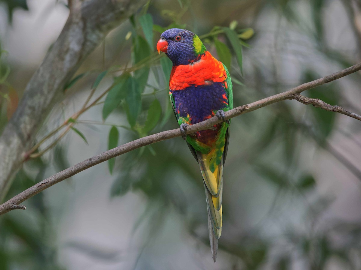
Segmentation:
{"type": "MultiPolygon", "coordinates": [[[[320,78],[315,81],[307,82],[305,84],[302,84],[300,86],[297,86],[289,91],[269,96],[268,98],[264,98],[261,100],[258,100],[256,102],[249,103],[247,105],[236,107],[230,111],[225,112],[225,118],[230,119],[236,116],[239,116],[240,114],[248,113],[255,111],[256,109],[265,107],[267,105],[280,102],[282,100],[286,99],[295,99],[295,95],[300,94],[301,92],[314,88],[319,85],[327,84],[328,82],[337,80],[339,78],[342,78],[344,76],[347,76],[351,73],[354,73],[356,71],[359,71],[361,69],[361,63],[356,64],[355,66],[343,69],[342,71],[333,73],[331,75],[328,75],[326,77],[320,78]]],[[[328,104],[327,104],[328,105],[328,104]]],[[[196,131],[200,130],[206,130],[212,127],[213,125],[216,125],[220,123],[221,121],[218,120],[217,117],[209,118],[203,122],[196,123],[194,125],[190,125],[187,127],[187,134],[194,133],[196,131]]],[[[81,171],[86,170],[87,168],[90,168],[94,165],[97,165],[101,162],[107,161],[110,158],[114,158],[117,156],[120,156],[122,154],[125,154],[127,152],[130,152],[132,150],[135,150],[137,148],[143,147],[145,145],[153,144],[158,141],[168,140],[171,138],[179,137],[181,136],[181,132],[179,129],[173,129],[168,131],[162,131],[153,135],[149,135],[134,141],[131,141],[129,143],[120,145],[116,148],[110,149],[104,153],[101,153],[97,156],[93,156],[91,158],[88,158],[74,166],[71,166],[70,168],[65,169],[64,171],[58,172],[57,174],[48,177],[47,179],[41,181],[40,183],[31,186],[30,188],[26,189],[25,191],[19,193],[15,197],[11,198],[9,201],[3,203],[0,205],[0,215],[3,215],[6,212],[9,212],[13,210],[12,206],[14,204],[18,205],[25,201],[26,199],[31,198],[35,194],[38,194],[39,192],[43,191],[44,189],[49,188],[52,185],[55,185],[56,183],[59,183],[62,180],[65,180],[75,174],[78,174],[81,171]]]]}

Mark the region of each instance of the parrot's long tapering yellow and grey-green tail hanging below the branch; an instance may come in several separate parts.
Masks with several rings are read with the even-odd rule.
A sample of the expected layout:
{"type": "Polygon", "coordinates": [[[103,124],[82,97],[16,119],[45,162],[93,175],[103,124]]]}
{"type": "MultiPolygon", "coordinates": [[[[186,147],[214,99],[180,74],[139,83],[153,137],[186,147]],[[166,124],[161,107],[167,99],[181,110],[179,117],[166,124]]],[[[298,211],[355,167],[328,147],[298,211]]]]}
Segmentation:
{"type": "MultiPolygon", "coordinates": [[[[223,149],[222,149],[223,150],[223,149]]],[[[223,152],[223,151],[222,151],[223,152]]],[[[208,210],[208,231],[213,261],[216,262],[218,239],[222,233],[222,191],[223,191],[223,154],[217,166],[212,154],[197,152],[197,159],[204,180],[204,189],[208,210]],[[210,170],[212,165],[214,172],[210,170]]],[[[219,158],[219,157],[218,157],[219,158]]]]}

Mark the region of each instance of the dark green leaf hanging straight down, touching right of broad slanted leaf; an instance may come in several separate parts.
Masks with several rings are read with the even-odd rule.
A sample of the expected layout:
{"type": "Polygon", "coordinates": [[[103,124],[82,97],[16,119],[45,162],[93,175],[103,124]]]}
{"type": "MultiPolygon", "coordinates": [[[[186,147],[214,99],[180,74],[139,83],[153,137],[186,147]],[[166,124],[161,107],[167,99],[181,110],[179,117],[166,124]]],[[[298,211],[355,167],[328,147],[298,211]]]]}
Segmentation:
{"type": "Polygon", "coordinates": [[[127,96],[125,98],[127,105],[127,118],[129,125],[134,127],[138,118],[140,108],[142,107],[142,96],[139,92],[139,84],[136,78],[129,77],[126,82],[127,96]]]}

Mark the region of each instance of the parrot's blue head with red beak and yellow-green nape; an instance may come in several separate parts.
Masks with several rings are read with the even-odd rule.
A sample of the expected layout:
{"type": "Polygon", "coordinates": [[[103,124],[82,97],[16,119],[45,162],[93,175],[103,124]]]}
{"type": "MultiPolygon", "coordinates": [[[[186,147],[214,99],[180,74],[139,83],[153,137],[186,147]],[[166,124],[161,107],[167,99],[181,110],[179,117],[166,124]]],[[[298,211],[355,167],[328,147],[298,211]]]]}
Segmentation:
{"type": "Polygon", "coordinates": [[[206,52],[199,37],[191,31],[171,28],[162,33],[157,43],[158,53],[166,53],[173,66],[195,62],[206,52]]]}

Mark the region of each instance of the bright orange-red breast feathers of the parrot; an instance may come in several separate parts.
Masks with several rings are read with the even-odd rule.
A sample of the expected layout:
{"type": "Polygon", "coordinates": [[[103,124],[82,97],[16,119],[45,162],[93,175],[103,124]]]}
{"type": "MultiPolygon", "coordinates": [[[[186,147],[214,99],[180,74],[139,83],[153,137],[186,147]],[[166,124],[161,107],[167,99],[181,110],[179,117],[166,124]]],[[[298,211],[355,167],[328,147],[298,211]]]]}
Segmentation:
{"type": "Polygon", "coordinates": [[[169,90],[182,90],[192,85],[205,85],[225,80],[226,71],[223,64],[206,51],[199,61],[172,68],[169,90]]]}

